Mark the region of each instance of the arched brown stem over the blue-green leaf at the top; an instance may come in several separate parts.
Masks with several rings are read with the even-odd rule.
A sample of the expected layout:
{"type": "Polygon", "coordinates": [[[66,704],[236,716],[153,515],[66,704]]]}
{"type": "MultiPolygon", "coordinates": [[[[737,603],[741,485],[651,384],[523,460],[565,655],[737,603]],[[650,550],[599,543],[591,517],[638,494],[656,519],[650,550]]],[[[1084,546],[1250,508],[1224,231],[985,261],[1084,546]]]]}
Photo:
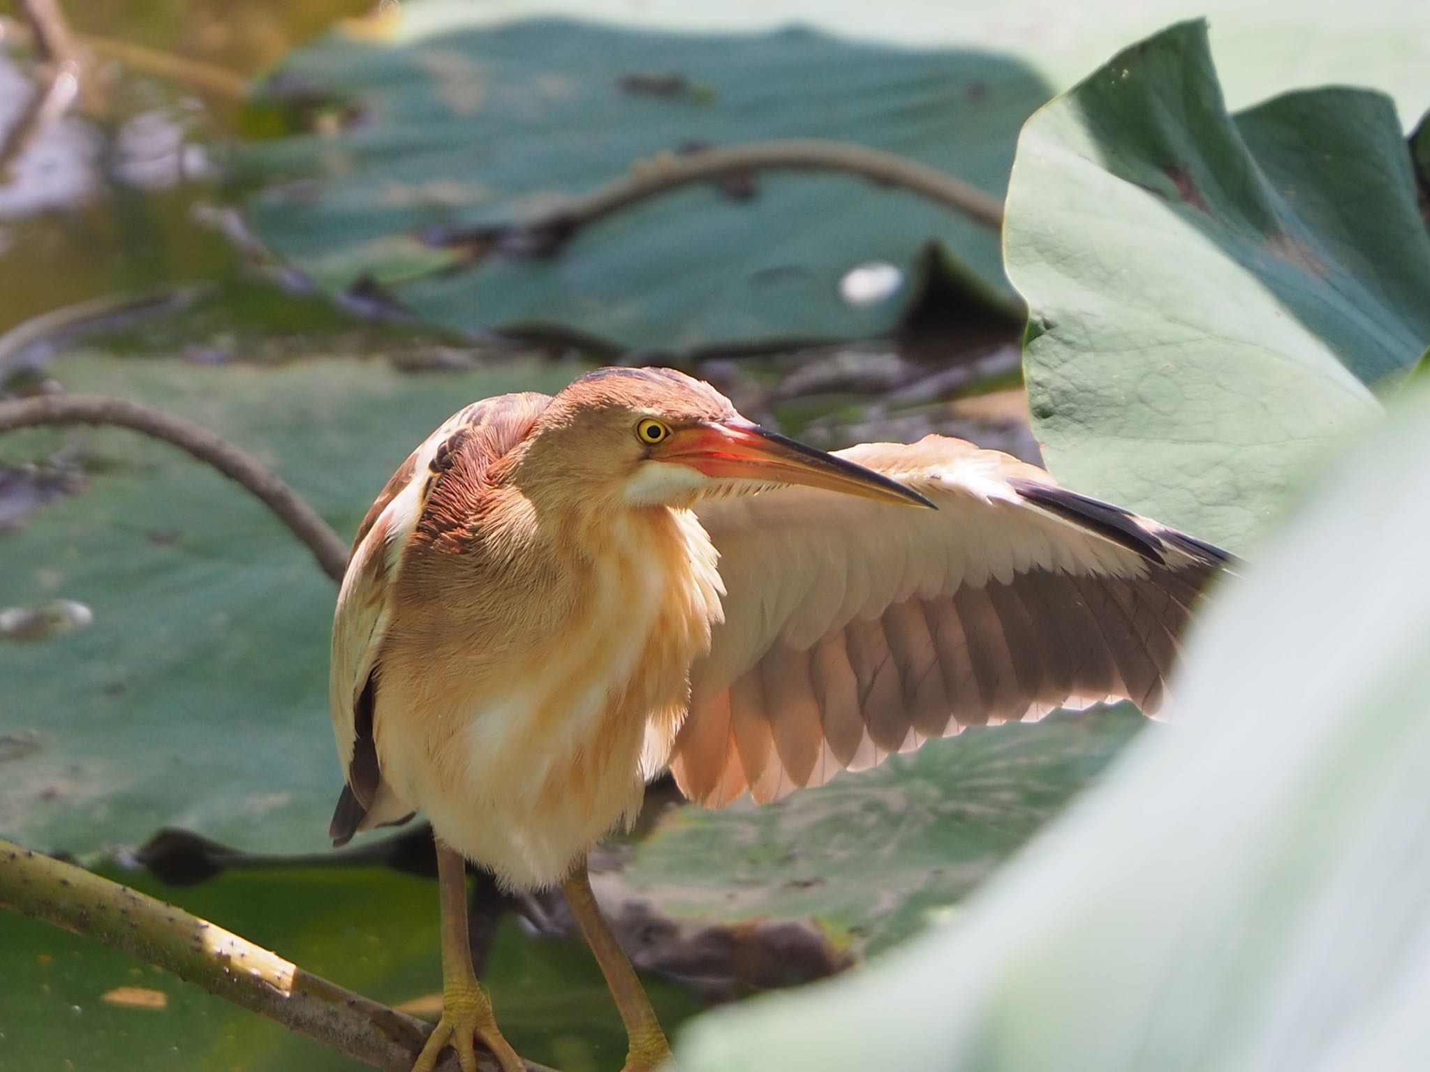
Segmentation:
{"type": "Polygon", "coordinates": [[[652,160],[638,160],[629,174],[573,197],[545,216],[526,220],[509,233],[532,236],[536,246],[545,250],[648,197],[732,173],[771,170],[845,172],[909,190],[994,230],[1002,227],[1002,203],[997,197],[937,167],[845,142],[791,139],[701,149],[681,156],[662,153],[652,160]]]}

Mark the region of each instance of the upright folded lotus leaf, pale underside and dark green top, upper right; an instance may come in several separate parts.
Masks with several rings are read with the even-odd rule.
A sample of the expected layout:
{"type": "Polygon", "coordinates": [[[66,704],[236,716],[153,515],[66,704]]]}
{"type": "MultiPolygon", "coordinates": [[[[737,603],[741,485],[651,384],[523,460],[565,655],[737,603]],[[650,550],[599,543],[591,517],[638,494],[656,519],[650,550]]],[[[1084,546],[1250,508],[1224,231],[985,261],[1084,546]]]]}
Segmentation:
{"type": "Polygon", "coordinates": [[[1005,242],[1048,467],[1236,550],[1430,339],[1390,101],[1308,90],[1228,116],[1197,23],[1024,127],[1005,242]]]}

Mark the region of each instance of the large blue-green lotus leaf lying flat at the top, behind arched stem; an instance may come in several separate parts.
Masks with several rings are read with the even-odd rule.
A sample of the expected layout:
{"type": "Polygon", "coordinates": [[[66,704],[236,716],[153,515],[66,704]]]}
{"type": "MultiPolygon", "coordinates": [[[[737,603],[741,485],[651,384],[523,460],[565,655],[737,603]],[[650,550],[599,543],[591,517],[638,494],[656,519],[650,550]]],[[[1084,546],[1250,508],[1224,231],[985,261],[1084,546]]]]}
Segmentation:
{"type": "Polygon", "coordinates": [[[917,297],[937,236],[967,286],[1017,307],[997,232],[848,176],[759,176],[749,199],[682,190],[582,230],[552,256],[490,253],[463,266],[456,252],[423,244],[433,230],[528,219],[692,143],[855,142],[1001,196],[1017,129],[1050,93],[1011,57],[807,30],[480,29],[480,9],[466,3],[425,4],[419,17],[416,34],[373,43],[335,33],[295,53],[275,84],[335,94],[359,120],[252,143],[239,157],[272,183],[249,203],[259,233],[329,287],[370,276],[442,324],[558,329],[633,347],[868,336],[917,297]],[[622,89],[642,76],[684,81],[665,93],[622,89]],[[904,286],[887,300],[845,302],[841,279],[868,262],[899,267],[904,286]]]}

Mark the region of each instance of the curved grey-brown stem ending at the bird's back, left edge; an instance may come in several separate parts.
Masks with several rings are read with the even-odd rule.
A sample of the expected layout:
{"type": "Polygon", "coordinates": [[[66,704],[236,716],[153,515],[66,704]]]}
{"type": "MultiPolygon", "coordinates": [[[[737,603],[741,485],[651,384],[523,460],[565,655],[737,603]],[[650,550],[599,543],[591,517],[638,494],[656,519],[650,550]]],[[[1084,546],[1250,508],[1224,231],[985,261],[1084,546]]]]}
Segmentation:
{"type": "Polygon", "coordinates": [[[340,582],[347,547],[297,492],[256,457],[207,429],[137,402],[104,394],[41,394],[0,402],[0,433],[40,425],[117,425],[173,443],[257,496],[313,552],[317,565],[340,582]]]}

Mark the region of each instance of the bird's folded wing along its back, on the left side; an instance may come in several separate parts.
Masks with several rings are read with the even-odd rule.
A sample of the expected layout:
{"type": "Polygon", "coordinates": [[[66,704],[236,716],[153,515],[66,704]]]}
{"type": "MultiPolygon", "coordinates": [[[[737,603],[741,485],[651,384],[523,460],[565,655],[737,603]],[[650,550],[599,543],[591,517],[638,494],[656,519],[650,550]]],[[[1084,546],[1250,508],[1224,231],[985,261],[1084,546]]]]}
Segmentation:
{"type": "Polygon", "coordinates": [[[403,549],[449,469],[449,456],[458,450],[505,453],[549,402],[548,394],[502,394],[453,413],[408,455],[358,527],[333,615],[329,675],[333,736],[346,778],[329,828],[336,845],[412,813],[382,780],[373,742],[378,665],[403,549]]]}

